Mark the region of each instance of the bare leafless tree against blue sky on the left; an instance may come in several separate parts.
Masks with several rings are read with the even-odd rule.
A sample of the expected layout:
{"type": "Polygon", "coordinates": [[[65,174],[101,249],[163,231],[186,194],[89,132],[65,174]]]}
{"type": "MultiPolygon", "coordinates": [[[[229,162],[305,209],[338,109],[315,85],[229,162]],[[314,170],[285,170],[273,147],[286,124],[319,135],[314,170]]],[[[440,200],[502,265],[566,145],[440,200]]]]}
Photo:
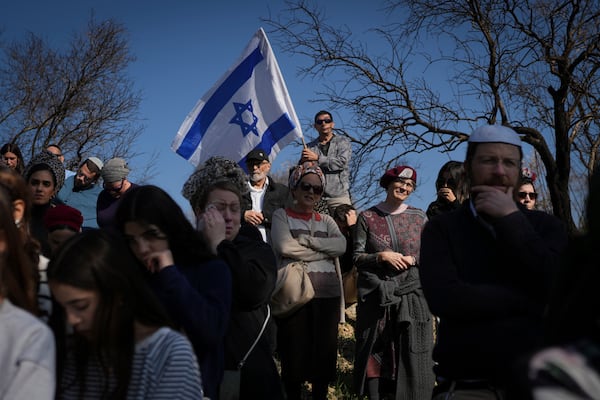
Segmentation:
{"type": "Polygon", "coordinates": [[[131,159],[141,134],[141,95],[126,74],[134,60],[127,31],[112,21],[75,33],[64,48],[52,48],[29,33],[2,46],[0,137],[17,142],[30,159],[58,144],[76,168],[87,156],[131,159]]]}

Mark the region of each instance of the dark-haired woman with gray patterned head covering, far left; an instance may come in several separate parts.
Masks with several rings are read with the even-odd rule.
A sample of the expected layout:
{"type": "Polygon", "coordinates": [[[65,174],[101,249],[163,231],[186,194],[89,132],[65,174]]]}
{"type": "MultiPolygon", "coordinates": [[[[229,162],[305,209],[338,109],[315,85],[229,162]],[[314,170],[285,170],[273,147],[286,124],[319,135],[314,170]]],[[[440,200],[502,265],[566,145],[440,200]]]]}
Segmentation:
{"type": "Polygon", "coordinates": [[[31,232],[42,246],[42,254],[50,256],[48,231],[44,226],[44,215],[50,207],[58,204],[56,198],[65,182],[65,167],[56,156],[46,150],[37,154],[23,173],[33,197],[31,209],[31,232]]]}

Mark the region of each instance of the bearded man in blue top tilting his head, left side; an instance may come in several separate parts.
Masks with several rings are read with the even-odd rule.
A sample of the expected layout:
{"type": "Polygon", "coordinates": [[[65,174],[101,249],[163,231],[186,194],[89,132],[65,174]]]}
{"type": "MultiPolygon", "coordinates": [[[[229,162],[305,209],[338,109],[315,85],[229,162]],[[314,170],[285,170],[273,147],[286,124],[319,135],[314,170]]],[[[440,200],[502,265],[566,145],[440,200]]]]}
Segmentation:
{"type": "Polygon", "coordinates": [[[97,185],[104,163],[97,157],[86,158],[77,172],[65,180],[58,198],[83,215],[83,228],[97,228],[96,202],[102,188],[97,185]]]}

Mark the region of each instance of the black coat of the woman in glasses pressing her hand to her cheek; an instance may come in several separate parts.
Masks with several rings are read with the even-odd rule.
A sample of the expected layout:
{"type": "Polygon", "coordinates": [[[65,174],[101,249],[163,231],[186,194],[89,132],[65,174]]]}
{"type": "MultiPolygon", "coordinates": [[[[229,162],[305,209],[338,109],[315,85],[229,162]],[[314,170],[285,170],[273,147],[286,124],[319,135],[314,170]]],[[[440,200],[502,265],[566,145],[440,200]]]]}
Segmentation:
{"type": "MultiPolygon", "coordinates": [[[[220,258],[229,265],[233,281],[233,303],[225,335],[225,369],[237,369],[258,336],[266,318],[277,278],[277,265],[271,246],[262,240],[256,227],[242,224],[233,242],[217,247],[220,258]]],[[[270,321],[270,324],[272,321],[270,321]]],[[[242,368],[240,399],[283,399],[282,386],[273,361],[268,326],[242,368]]]]}

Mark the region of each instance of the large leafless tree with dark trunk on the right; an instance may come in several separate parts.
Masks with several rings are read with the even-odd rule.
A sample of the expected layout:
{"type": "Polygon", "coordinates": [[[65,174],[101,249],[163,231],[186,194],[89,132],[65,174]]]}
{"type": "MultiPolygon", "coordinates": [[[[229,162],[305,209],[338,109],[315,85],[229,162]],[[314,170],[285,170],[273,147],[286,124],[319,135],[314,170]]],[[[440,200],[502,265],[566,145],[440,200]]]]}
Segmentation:
{"type": "Polygon", "coordinates": [[[393,23],[367,32],[329,25],[306,0],[287,5],[265,19],[270,36],[323,82],[321,100],[354,116],[353,133],[340,133],[355,144],[359,182],[500,123],[535,149],[554,214],[577,230],[571,176],[590,175],[600,145],[597,0],[393,0],[382,8],[393,23]],[[370,53],[373,40],[387,51],[370,53]]]}

